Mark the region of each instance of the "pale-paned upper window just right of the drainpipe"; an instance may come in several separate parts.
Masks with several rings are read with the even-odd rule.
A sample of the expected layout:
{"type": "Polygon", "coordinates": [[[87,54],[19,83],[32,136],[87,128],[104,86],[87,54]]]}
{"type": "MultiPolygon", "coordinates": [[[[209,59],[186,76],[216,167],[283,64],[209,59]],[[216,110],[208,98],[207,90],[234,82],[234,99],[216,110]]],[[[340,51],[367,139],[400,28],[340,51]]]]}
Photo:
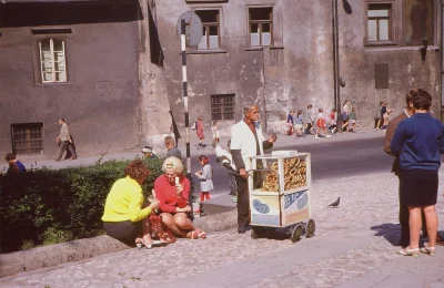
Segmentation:
{"type": "Polygon", "coordinates": [[[392,41],[392,4],[369,4],[367,10],[367,41],[392,41]]]}

